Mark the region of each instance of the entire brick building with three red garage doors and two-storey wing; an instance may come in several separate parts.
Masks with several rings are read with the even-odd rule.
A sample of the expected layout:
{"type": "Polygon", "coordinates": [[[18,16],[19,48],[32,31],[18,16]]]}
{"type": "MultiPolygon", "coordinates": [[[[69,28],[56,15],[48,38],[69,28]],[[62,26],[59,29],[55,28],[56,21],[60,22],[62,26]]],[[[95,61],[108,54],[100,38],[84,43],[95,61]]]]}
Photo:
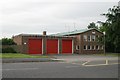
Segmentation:
{"type": "Polygon", "coordinates": [[[104,45],[98,42],[103,33],[97,29],[82,29],[46,35],[19,34],[13,37],[22,45],[21,53],[28,54],[93,54],[103,53],[104,45]]]}

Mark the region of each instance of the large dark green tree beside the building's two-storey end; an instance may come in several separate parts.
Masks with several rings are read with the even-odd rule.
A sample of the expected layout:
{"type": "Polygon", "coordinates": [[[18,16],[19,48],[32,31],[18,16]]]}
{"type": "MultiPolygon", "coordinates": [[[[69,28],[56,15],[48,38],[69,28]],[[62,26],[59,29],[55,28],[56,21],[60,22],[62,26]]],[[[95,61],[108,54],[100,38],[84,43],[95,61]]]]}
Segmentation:
{"type": "Polygon", "coordinates": [[[107,18],[100,26],[100,30],[106,32],[106,50],[120,52],[120,7],[109,8],[108,12],[102,15],[107,18]]]}

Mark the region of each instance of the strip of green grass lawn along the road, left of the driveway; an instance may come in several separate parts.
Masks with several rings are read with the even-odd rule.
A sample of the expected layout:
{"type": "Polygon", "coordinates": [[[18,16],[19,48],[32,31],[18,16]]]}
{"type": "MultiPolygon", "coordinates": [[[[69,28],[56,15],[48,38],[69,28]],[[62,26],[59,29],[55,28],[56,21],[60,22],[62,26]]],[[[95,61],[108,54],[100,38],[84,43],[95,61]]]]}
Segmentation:
{"type": "Polygon", "coordinates": [[[48,58],[48,56],[35,56],[21,53],[0,53],[0,58],[48,58]]]}

